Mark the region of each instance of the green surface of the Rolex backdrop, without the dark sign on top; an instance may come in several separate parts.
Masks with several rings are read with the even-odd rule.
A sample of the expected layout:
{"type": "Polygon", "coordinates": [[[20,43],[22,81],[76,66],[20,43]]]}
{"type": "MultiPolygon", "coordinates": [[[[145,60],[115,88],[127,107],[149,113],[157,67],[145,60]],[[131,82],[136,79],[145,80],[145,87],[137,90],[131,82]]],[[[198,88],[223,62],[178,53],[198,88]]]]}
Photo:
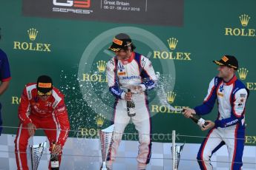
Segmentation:
{"type": "MultiPolygon", "coordinates": [[[[1,96],[4,126],[18,126],[19,104],[16,98],[20,98],[25,84],[35,82],[39,75],[47,74],[65,94],[71,129],[82,130],[71,132],[70,137],[96,137],[98,129],[110,125],[114,105],[114,97],[108,92],[105,82],[105,72],[101,72],[105,68],[97,69],[96,63],[111,58],[113,54],[107,50],[111,39],[117,33],[125,32],[134,39],[137,52],[151,58],[155,71],[162,76],[160,84],[164,92],[176,94],[173,103],[170,103],[177,108],[194,107],[202,103],[211,78],[217,75],[217,66],[212,60],[224,54],[235,55],[240,61],[240,67],[249,70],[245,79],[242,77],[251,92],[246,109],[246,144],[255,145],[255,6],[256,1],[253,0],[186,0],[183,27],[163,27],[25,17],[22,16],[21,0],[2,2],[0,47],[8,55],[12,74],[10,87],[1,96]],[[242,14],[250,16],[246,26],[240,23],[239,16],[242,14]],[[27,34],[30,28],[38,30],[34,41],[27,34]],[[226,33],[226,30],[229,31],[226,33]],[[169,38],[178,40],[174,50],[169,47],[169,38]],[[15,47],[15,41],[20,46],[15,47]],[[33,47],[30,50],[19,50],[23,42],[23,48],[27,44],[33,44],[33,47]],[[42,47],[49,46],[50,52],[34,51],[36,44],[39,47],[41,44],[42,47]],[[99,114],[106,118],[102,126],[96,125],[95,119],[99,114]]],[[[241,78],[239,74],[237,77],[241,78]]],[[[206,135],[206,132],[201,132],[196,124],[180,113],[168,112],[157,97],[161,93],[157,92],[159,90],[160,87],[149,92],[153,133],[170,134],[171,130],[176,129],[180,135],[206,135]]],[[[205,118],[214,120],[216,117],[215,106],[205,118]]],[[[134,131],[132,125],[126,129],[126,132],[134,131]]],[[[5,128],[4,133],[15,134],[16,129],[5,128]]],[[[170,137],[163,136],[154,138],[154,141],[170,140],[170,137]]],[[[180,137],[180,141],[186,143],[200,143],[201,140],[180,137]]]]}

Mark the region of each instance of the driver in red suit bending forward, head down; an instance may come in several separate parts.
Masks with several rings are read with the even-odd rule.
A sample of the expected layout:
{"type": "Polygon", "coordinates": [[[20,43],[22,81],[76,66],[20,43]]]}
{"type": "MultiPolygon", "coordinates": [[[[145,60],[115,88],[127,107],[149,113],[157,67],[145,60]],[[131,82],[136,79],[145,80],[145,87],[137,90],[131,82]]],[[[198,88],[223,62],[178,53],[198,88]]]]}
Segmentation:
{"type": "Polygon", "coordinates": [[[50,152],[58,153],[60,163],[70,123],[64,95],[53,87],[52,79],[49,76],[39,76],[37,83],[25,86],[19,105],[19,120],[19,129],[15,140],[17,168],[28,169],[27,140],[35,134],[36,129],[45,129],[45,135],[50,143],[50,152]],[[54,149],[52,149],[53,142],[56,143],[54,149]]]}

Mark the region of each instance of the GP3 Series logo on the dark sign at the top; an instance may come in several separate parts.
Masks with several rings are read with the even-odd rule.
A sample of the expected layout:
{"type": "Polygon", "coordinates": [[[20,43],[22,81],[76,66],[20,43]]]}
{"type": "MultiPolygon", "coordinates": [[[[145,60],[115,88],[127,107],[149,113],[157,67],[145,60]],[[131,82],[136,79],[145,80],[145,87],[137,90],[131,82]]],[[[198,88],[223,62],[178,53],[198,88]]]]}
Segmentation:
{"type": "Polygon", "coordinates": [[[85,10],[91,7],[91,0],[65,0],[66,2],[61,2],[60,0],[53,0],[53,12],[59,13],[82,13],[90,14],[92,10],[85,10]]]}

